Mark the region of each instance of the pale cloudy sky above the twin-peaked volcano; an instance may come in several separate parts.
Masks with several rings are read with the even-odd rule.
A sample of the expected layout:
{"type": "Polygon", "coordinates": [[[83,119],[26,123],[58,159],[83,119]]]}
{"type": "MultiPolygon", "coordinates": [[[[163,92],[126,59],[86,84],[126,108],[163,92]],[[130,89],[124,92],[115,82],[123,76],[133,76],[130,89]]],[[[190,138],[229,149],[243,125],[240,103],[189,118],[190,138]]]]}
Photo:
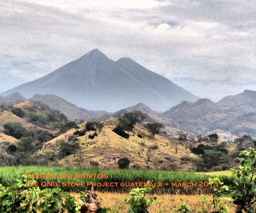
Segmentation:
{"type": "Polygon", "coordinates": [[[98,48],[201,98],[256,90],[255,0],[0,1],[0,92],[98,48]]]}

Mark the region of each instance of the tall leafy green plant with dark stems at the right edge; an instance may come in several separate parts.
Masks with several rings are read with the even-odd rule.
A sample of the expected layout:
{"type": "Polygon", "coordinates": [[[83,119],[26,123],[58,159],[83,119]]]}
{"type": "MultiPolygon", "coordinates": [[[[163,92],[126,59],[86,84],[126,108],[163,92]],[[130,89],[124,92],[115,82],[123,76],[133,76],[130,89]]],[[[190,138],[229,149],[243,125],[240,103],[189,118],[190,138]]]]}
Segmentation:
{"type": "Polygon", "coordinates": [[[239,159],[242,164],[239,166],[240,170],[231,169],[234,185],[230,187],[230,192],[233,203],[237,205],[237,213],[242,210],[252,212],[252,205],[256,202],[256,152],[249,148],[249,151],[241,151],[240,156],[244,156],[239,159]]]}

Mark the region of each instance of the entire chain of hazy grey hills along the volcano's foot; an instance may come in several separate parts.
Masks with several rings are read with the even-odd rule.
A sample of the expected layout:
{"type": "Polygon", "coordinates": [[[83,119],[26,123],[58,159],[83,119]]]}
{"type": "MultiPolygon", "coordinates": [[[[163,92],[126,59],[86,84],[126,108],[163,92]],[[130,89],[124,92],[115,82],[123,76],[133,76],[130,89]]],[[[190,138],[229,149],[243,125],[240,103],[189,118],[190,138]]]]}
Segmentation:
{"type": "Polygon", "coordinates": [[[177,135],[183,130],[190,135],[218,133],[220,139],[232,140],[237,134],[249,134],[256,137],[256,91],[245,90],[236,96],[227,96],[219,103],[203,98],[196,102],[182,101],[166,112],[156,112],[143,103],[136,104],[115,113],[93,111],[77,107],[56,95],[35,95],[26,99],[19,93],[6,97],[0,96],[0,103],[14,105],[23,101],[43,104],[66,114],[70,120],[83,119],[104,121],[111,116],[119,117],[126,112],[140,110],[145,114],[146,122],[163,123],[167,134],[177,135]],[[176,132],[176,133],[175,133],[176,132]],[[225,138],[224,138],[225,137],[225,138]]]}

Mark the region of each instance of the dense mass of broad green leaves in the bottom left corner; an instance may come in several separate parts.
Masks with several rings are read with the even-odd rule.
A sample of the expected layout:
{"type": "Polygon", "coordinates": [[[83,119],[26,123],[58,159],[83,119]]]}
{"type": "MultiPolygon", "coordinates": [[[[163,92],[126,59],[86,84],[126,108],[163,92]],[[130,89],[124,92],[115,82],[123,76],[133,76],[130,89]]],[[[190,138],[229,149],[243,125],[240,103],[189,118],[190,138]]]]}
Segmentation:
{"type": "MultiPolygon", "coordinates": [[[[27,187],[22,181],[16,181],[13,186],[7,188],[0,184],[0,212],[75,213],[81,207],[77,205],[81,200],[76,201],[74,196],[61,192],[60,188],[40,190],[39,187],[27,187]],[[26,189],[24,192],[28,192],[28,197],[22,189],[26,189]]],[[[36,181],[25,179],[24,182],[36,181]]]]}

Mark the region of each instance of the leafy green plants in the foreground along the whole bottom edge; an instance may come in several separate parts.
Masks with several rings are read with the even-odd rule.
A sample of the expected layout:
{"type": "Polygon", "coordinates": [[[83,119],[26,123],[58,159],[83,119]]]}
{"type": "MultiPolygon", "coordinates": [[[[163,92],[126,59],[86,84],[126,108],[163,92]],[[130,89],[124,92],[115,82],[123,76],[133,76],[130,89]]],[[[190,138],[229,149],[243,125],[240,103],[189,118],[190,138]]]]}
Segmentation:
{"type": "MultiPolygon", "coordinates": [[[[235,205],[236,213],[253,213],[256,210],[256,151],[249,148],[249,151],[243,150],[240,153],[239,170],[231,169],[233,172],[232,184],[226,186],[219,178],[209,178],[210,195],[201,195],[200,205],[193,208],[181,200],[179,206],[175,206],[169,212],[195,212],[195,213],[227,213],[228,203],[235,205]],[[231,198],[223,198],[223,196],[231,198]]],[[[25,178],[25,175],[22,175],[25,178]]],[[[100,206],[94,189],[87,192],[80,191],[80,197],[73,196],[67,192],[61,192],[60,188],[40,189],[39,187],[26,186],[25,182],[35,183],[35,179],[25,179],[16,182],[9,187],[0,184],[0,208],[2,212],[81,212],[81,213],[103,213],[118,212],[100,206]]],[[[147,181],[149,184],[150,182],[147,181]]],[[[128,213],[149,213],[149,207],[157,197],[146,197],[154,187],[145,186],[143,188],[134,188],[130,191],[130,198],[124,198],[123,202],[129,206],[128,213]]],[[[118,204],[118,203],[116,203],[118,204]]],[[[108,204],[109,205],[109,204],[108,204]]],[[[233,208],[233,206],[231,206],[233,208]]],[[[233,211],[233,210],[232,210],[233,211]]],[[[122,211],[123,212],[123,211],[122,211]]],[[[163,212],[158,209],[155,212],[163,212]]]]}

